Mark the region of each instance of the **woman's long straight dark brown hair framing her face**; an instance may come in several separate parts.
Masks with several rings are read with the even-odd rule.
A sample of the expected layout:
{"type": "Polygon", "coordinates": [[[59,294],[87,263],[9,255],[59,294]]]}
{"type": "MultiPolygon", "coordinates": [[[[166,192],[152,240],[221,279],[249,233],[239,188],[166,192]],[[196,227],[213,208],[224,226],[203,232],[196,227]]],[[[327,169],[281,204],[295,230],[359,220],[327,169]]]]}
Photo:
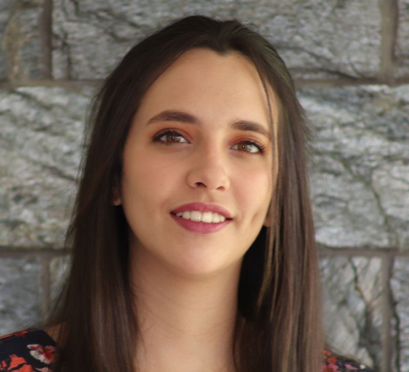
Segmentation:
{"type": "Polygon", "coordinates": [[[271,124],[276,168],[271,227],[260,230],[240,274],[232,345],[237,371],[321,369],[321,292],[306,169],[310,132],[293,81],[275,48],[252,25],[192,15],[130,49],[92,102],[65,239],[71,268],[44,323],[62,325],[55,372],[134,371],[139,327],[128,280],[128,225],[122,206],[112,205],[113,189],[120,186],[124,143],[145,92],[192,48],[248,57],[267,97],[272,89],[278,105],[278,120],[271,124]]]}

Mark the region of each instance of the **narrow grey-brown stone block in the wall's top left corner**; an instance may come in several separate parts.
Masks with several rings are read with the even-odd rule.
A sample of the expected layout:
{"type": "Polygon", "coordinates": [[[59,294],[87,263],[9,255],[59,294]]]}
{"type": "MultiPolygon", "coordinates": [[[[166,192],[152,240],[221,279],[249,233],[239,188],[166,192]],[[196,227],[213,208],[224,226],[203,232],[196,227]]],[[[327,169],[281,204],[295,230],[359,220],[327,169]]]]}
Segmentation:
{"type": "Polygon", "coordinates": [[[42,46],[42,0],[2,0],[0,5],[0,79],[47,76],[42,46]]]}

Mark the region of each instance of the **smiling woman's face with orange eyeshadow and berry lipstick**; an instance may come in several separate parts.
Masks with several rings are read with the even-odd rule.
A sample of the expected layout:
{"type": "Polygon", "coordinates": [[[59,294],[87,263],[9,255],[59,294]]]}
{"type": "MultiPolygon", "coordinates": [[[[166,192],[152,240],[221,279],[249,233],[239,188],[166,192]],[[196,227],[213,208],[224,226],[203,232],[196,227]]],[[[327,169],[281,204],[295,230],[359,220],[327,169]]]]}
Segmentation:
{"type": "Polygon", "coordinates": [[[147,91],[125,143],[117,203],[133,253],[196,277],[240,265],[271,199],[270,130],[267,99],[249,60],[208,49],[180,56],[147,91]],[[185,208],[190,217],[175,215],[188,203],[204,206],[185,208]],[[202,213],[209,205],[231,220],[191,221],[217,221],[202,213]]]}

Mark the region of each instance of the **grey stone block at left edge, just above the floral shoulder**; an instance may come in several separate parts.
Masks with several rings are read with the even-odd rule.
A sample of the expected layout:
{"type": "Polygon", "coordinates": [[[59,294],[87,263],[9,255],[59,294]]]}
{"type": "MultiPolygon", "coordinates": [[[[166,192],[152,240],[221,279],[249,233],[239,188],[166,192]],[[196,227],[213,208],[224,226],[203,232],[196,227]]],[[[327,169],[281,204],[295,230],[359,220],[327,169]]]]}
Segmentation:
{"type": "Polygon", "coordinates": [[[38,257],[0,258],[0,335],[41,320],[41,296],[38,257]]]}

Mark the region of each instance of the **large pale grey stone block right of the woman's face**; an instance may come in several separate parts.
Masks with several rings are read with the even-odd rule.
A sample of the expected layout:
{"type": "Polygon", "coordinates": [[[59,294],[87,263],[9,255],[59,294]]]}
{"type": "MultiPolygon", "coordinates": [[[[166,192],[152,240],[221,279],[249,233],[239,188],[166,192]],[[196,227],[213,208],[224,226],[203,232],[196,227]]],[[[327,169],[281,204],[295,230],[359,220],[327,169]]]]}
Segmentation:
{"type": "Polygon", "coordinates": [[[317,242],[409,248],[409,86],[300,89],[317,242]]]}

